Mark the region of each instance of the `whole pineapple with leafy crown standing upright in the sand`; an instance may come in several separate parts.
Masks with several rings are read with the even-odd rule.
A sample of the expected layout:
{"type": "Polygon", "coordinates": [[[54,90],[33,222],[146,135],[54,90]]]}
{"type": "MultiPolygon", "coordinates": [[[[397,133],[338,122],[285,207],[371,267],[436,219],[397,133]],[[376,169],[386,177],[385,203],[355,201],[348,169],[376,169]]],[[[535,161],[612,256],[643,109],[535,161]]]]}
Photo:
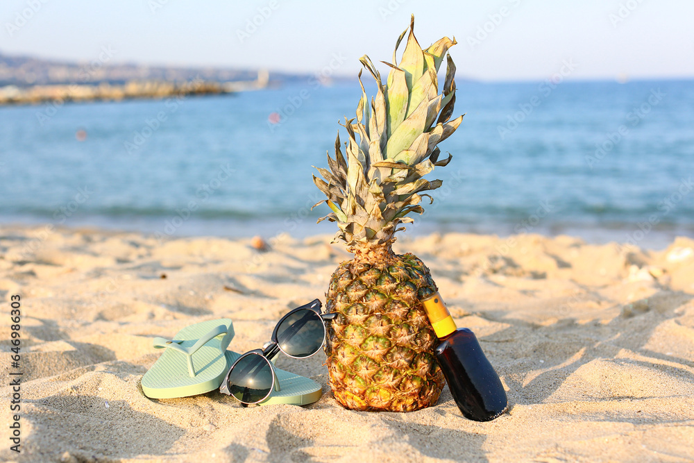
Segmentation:
{"type": "MultiPolygon", "coordinates": [[[[396,42],[407,44],[400,62],[390,67],[386,85],[368,56],[360,61],[377,83],[375,98],[362,97],[355,119],[345,119],[349,141],[346,159],[335,142],[323,179],[314,183],[328,196],[337,222],[335,239],[346,242],[354,258],[332,274],[327,294],[330,323],[325,353],[329,383],[344,407],[355,410],[406,412],[433,405],[443,389],[443,374],[433,355],[436,335],[420,300],[437,291],[429,269],[415,255],[396,255],[392,244],[400,224],[422,213],[422,192],[441,186],[423,176],[439,160],[437,144],[462,121],[450,120],[455,103],[455,65],[447,55],[455,38],[443,37],[422,50],[414,37],[414,15],[396,42]],[[437,71],[446,56],[446,80],[439,94],[437,71]],[[357,139],[358,135],[358,139],[357,139]],[[358,141],[357,141],[358,140],[358,141]]],[[[315,207],[315,206],[314,206],[315,207]]]]}

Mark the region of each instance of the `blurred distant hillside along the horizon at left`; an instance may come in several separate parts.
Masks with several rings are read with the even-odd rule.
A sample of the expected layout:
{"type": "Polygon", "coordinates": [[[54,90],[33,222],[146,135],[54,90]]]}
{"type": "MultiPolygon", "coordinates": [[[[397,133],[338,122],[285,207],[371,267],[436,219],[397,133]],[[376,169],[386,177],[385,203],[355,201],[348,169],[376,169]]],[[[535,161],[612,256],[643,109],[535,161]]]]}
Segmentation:
{"type": "MultiPolygon", "coordinates": [[[[195,78],[212,82],[252,81],[258,69],[221,67],[167,67],[135,63],[111,64],[112,53],[102,47],[99,58],[92,62],[46,60],[30,56],[9,56],[0,53],[0,86],[97,83],[124,84],[130,81],[192,81],[195,78]]],[[[305,81],[311,74],[270,72],[270,81],[305,81]]]]}

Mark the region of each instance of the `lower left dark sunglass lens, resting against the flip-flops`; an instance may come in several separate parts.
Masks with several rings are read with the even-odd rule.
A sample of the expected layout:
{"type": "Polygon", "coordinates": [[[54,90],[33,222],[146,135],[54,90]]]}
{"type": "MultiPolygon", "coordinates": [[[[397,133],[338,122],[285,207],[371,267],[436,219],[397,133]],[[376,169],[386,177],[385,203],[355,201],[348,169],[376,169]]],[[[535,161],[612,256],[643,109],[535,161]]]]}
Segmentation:
{"type": "Polygon", "coordinates": [[[262,355],[241,357],[229,373],[228,387],[232,396],[244,403],[261,402],[272,392],[272,369],[262,355]]]}

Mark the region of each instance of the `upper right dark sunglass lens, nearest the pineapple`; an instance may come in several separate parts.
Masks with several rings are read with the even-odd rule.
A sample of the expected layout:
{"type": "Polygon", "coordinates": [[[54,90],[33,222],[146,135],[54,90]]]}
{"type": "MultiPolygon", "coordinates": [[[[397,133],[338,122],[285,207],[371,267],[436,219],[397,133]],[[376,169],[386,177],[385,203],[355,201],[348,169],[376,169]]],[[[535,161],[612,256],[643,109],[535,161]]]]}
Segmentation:
{"type": "Polygon", "coordinates": [[[325,325],[313,310],[297,310],[277,328],[280,349],[292,357],[308,357],[318,352],[325,339],[325,325]]]}

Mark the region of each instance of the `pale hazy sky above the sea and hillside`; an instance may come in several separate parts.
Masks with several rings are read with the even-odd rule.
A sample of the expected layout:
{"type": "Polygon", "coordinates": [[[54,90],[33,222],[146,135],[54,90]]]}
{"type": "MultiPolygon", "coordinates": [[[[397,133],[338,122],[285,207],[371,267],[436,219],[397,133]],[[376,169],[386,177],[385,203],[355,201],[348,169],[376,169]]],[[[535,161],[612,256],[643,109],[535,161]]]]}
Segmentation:
{"type": "Polygon", "coordinates": [[[416,16],[459,78],[694,77],[691,0],[2,0],[0,53],[353,75],[416,16]]]}

